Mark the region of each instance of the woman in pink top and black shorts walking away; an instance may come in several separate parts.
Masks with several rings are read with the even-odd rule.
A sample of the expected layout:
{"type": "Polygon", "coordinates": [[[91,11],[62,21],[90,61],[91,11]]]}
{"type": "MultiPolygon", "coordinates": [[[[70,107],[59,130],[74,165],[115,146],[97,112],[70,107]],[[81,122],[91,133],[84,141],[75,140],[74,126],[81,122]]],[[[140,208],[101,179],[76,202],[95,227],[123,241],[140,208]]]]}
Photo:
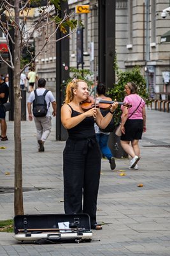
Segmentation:
{"type": "Polygon", "coordinates": [[[137,86],[133,82],[125,84],[125,92],[127,96],[125,96],[124,102],[132,104],[132,108],[121,107],[123,113],[120,143],[125,152],[132,157],[129,168],[138,169],[139,140],[141,140],[143,132],[146,132],[145,101],[137,94],[137,86]]]}

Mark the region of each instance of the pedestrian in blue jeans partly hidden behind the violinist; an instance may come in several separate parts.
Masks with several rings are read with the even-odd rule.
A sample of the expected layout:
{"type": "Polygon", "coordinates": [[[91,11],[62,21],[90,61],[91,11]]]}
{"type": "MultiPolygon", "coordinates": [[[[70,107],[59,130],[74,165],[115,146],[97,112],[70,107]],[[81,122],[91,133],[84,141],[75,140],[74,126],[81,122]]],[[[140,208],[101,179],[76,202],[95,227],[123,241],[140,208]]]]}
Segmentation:
{"type": "MultiPolygon", "coordinates": [[[[106,85],[103,83],[97,84],[96,92],[97,92],[97,98],[96,98],[97,102],[99,102],[99,100],[101,100],[101,99],[106,98],[106,95],[105,95],[106,85]]],[[[109,110],[101,109],[102,115],[106,115],[108,112],[109,112],[109,110]]],[[[114,124],[112,124],[111,126],[112,126],[111,131],[113,131],[114,124]]],[[[95,128],[95,132],[96,132],[96,138],[99,143],[99,147],[101,148],[101,153],[110,162],[111,170],[114,170],[116,168],[115,158],[113,157],[113,154],[111,153],[111,150],[108,147],[108,139],[109,139],[110,132],[104,132],[104,130],[101,130],[96,123],[94,123],[94,128],[95,128]]]]}

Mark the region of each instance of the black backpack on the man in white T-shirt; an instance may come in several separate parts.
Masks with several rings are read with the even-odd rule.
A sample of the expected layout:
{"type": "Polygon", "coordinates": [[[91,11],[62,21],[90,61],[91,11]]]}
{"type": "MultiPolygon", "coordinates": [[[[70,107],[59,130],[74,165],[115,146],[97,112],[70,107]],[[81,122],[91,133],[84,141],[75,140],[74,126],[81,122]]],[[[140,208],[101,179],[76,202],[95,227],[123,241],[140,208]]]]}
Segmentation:
{"type": "Polygon", "coordinates": [[[33,101],[32,113],[36,117],[46,116],[47,114],[48,108],[50,106],[50,102],[49,102],[49,106],[47,108],[47,104],[45,100],[45,95],[47,92],[48,90],[45,90],[43,95],[37,95],[36,90],[34,90],[35,99],[33,101]]]}

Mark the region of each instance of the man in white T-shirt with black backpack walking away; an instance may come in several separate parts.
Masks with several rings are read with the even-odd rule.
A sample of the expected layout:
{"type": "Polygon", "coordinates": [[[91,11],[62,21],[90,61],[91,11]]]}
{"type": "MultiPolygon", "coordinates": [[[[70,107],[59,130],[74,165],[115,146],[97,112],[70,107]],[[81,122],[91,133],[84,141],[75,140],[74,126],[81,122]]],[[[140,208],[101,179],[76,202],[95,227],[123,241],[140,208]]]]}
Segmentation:
{"type": "Polygon", "coordinates": [[[31,92],[27,100],[29,120],[32,121],[32,114],[36,125],[38,151],[44,152],[44,143],[50,135],[52,128],[52,117],[50,116],[50,102],[52,102],[52,115],[56,116],[56,102],[50,90],[45,89],[46,80],[38,80],[38,88],[31,92]],[[31,105],[32,109],[31,109],[31,105]]]}

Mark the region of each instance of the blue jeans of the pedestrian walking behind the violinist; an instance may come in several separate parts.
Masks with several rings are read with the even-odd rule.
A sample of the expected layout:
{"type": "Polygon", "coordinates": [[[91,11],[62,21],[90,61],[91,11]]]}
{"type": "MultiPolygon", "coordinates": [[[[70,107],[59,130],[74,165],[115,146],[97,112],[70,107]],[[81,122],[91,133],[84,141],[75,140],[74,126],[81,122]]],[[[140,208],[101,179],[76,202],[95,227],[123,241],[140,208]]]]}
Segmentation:
{"type": "Polygon", "coordinates": [[[103,156],[107,157],[107,159],[110,160],[111,157],[113,157],[113,155],[111,154],[111,150],[108,147],[109,135],[104,133],[96,133],[96,138],[101,148],[103,156]]]}

